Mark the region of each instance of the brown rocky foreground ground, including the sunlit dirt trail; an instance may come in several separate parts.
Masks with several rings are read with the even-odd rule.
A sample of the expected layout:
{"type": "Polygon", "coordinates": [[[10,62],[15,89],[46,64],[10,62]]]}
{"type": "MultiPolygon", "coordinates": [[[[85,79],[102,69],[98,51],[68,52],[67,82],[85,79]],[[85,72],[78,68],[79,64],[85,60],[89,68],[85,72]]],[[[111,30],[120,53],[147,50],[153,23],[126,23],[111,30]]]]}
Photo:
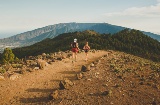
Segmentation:
{"type": "Polygon", "coordinates": [[[84,53],[0,81],[2,105],[159,105],[160,64],[117,51],[84,53]]]}

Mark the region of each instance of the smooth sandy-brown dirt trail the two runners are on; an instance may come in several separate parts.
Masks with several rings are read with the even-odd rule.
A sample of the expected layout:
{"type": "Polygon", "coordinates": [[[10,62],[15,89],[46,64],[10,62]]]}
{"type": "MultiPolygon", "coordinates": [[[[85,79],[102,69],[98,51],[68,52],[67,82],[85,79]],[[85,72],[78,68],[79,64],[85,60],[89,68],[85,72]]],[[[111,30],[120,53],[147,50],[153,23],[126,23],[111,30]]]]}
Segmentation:
{"type": "Polygon", "coordinates": [[[74,80],[82,65],[89,64],[105,54],[107,51],[89,52],[89,60],[85,62],[85,54],[79,53],[75,63],[66,58],[48,65],[44,70],[21,75],[14,81],[0,81],[0,105],[40,105],[48,102],[49,94],[59,88],[60,80],[74,80]]]}

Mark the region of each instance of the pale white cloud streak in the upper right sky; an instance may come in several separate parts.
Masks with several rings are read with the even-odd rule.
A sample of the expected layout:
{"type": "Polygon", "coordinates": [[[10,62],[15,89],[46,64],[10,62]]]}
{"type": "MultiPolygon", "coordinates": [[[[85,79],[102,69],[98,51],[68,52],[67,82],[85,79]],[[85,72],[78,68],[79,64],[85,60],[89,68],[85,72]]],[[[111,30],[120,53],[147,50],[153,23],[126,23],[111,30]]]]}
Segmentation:
{"type": "Polygon", "coordinates": [[[134,16],[134,17],[160,17],[160,0],[157,5],[148,7],[131,7],[121,12],[106,13],[107,17],[112,16],[134,16]]]}

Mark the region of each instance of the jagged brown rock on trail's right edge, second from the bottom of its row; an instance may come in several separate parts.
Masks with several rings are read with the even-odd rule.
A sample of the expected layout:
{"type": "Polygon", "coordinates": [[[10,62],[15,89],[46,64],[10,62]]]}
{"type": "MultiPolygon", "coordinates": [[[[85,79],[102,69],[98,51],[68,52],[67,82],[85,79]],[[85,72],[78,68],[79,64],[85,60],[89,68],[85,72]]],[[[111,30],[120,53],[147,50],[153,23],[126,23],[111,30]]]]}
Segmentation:
{"type": "Polygon", "coordinates": [[[70,86],[73,86],[73,82],[71,82],[69,79],[65,79],[59,83],[60,89],[68,89],[70,86]]]}

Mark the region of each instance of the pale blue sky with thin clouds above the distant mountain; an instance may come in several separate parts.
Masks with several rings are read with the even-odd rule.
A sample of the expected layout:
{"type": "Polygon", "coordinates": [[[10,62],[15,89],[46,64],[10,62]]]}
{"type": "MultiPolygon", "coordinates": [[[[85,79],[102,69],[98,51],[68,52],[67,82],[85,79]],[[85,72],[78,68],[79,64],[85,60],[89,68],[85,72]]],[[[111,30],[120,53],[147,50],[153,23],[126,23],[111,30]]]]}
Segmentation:
{"type": "Polygon", "coordinates": [[[160,0],[0,0],[0,38],[69,22],[160,34],[160,0]]]}

